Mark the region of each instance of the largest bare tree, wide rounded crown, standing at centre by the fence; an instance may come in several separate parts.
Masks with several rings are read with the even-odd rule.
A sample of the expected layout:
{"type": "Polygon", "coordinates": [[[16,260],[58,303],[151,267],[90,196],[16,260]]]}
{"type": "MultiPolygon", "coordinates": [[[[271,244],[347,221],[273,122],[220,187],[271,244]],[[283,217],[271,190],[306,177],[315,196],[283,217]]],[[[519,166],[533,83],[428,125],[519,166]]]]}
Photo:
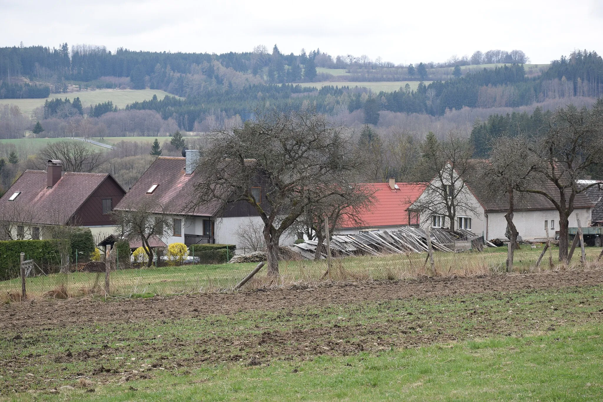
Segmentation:
{"type": "Polygon", "coordinates": [[[277,275],[282,234],[306,206],[350,186],[362,161],[343,128],[313,110],[256,110],[242,128],[212,135],[195,171],[197,203],[249,203],[264,221],[268,274],[277,275]]]}

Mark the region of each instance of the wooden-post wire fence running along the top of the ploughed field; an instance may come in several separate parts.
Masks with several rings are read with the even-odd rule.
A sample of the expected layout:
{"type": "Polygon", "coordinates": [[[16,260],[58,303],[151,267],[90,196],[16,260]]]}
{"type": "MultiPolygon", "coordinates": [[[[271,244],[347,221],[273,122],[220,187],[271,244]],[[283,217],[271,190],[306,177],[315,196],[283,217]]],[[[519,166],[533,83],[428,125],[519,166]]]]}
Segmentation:
{"type": "MultiPolygon", "coordinates": [[[[574,258],[573,266],[554,263],[546,258],[538,268],[536,261],[542,248],[524,247],[516,252],[515,270],[534,272],[545,269],[567,269],[580,265],[574,258]]],[[[599,249],[587,248],[587,266],[598,266],[599,249]]],[[[555,253],[556,250],[553,250],[555,253]]],[[[553,254],[554,260],[557,256],[553,254]]],[[[334,258],[327,272],[326,260],[290,260],[279,263],[279,275],[269,276],[260,270],[244,289],[259,287],[314,286],[326,281],[407,280],[424,276],[450,277],[452,275],[484,275],[505,272],[506,248],[488,249],[481,253],[434,254],[435,271],[426,260],[426,253],[387,254],[334,258]]],[[[104,265],[104,263],[103,263],[104,265]]],[[[225,263],[216,265],[187,264],[182,266],[141,266],[113,264],[109,271],[109,289],[105,286],[106,272],[73,271],[45,274],[34,268],[25,278],[27,298],[69,298],[86,295],[101,297],[148,297],[198,292],[232,291],[256,266],[256,263],[225,263]]],[[[21,277],[0,282],[3,300],[21,300],[21,277]]]]}

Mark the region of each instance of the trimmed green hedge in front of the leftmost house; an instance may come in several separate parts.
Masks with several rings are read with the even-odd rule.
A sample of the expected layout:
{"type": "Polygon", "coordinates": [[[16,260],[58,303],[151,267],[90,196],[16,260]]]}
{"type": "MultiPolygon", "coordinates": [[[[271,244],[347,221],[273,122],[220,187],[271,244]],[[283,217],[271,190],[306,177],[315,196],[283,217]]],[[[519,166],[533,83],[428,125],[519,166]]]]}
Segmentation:
{"type": "Polygon", "coordinates": [[[0,280],[19,277],[21,253],[39,266],[59,266],[60,250],[71,255],[70,240],[5,240],[0,241],[0,280]]]}

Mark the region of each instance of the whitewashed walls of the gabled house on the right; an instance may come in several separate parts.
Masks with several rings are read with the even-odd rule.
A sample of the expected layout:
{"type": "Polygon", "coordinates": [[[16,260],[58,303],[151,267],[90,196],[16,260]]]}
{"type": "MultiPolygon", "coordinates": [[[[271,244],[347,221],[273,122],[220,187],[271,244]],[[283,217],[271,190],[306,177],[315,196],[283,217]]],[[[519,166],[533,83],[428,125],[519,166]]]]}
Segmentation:
{"type": "MultiPolygon", "coordinates": [[[[447,169],[452,166],[447,165],[447,169]]],[[[444,177],[451,177],[444,175],[444,177]]],[[[452,176],[456,177],[456,176],[452,176]]],[[[444,180],[441,183],[438,178],[434,178],[417,199],[414,207],[421,204],[426,197],[450,196],[452,192],[459,193],[459,206],[456,209],[455,229],[462,228],[473,231],[478,236],[484,236],[486,240],[504,239],[507,231],[507,198],[491,199],[487,192],[479,183],[466,183],[463,180],[455,181],[456,187],[452,188],[449,181],[444,180]],[[462,187],[461,187],[462,186],[462,187]],[[458,191],[460,190],[460,191],[458,191]]],[[[543,190],[549,193],[555,193],[555,190],[549,188],[552,184],[541,184],[543,190]]],[[[575,210],[569,216],[569,226],[576,227],[578,222],[576,216],[579,216],[582,227],[591,223],[592,201],[585,193],[579,193],[574,199],[575,210]]],[[[449,227],[449,218],[443,213],[434,213],[423,211],[421,226],[425,227],[449,227]]],[[[522,193],[517,196],[516,206],[513,216],[513,222],[517,227],[519,236],[524,240],[546,239],[546,228],[549,229],[549,236],[557,237],[559,230],[559,213],[554,205],[542,195],[533,193],[522,193]]]]}

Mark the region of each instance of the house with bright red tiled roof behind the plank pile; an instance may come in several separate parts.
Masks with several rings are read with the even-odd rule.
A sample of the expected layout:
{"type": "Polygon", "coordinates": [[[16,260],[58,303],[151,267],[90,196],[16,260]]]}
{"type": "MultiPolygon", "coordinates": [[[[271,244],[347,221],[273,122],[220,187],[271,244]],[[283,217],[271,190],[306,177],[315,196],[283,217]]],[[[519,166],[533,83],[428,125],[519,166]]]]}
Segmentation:
{"type": "Polygon", "coordinates": [[[356,214],[357,219],[343,216],[335,234],[358,234],[368,230],[396,230],[403,226],[420,224],[418,211],[408,210],[423,193],[427,183],[396,183],[390,178],[387,183],[359,183],[373,194],[370,207],[356,214]]]}

